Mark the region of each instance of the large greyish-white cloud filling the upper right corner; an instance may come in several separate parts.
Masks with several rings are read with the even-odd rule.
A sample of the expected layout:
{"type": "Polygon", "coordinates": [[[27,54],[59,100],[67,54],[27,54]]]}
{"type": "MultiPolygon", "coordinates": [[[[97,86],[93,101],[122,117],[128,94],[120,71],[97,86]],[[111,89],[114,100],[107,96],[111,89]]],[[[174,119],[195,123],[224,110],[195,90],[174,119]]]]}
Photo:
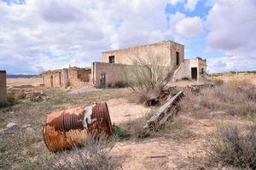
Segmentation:
{"type": "Polygon", "coordinates": [[[207,16],[207,48],[227,54],[250,54],[256,50],[256,1],[214,1],[207,16]]]}

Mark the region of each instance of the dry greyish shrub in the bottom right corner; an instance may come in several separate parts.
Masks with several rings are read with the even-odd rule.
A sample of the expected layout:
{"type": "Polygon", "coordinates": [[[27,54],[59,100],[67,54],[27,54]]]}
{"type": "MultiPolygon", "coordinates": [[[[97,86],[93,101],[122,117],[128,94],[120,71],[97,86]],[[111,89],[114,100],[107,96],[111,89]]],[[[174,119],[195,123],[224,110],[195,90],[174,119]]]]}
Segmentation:
{"type": "Polygon", "coordinates": [[[256,125],[241,127],[235,123],[219,125],[208,140],[212,162],[234,167],[256,168],[256,125]]]}

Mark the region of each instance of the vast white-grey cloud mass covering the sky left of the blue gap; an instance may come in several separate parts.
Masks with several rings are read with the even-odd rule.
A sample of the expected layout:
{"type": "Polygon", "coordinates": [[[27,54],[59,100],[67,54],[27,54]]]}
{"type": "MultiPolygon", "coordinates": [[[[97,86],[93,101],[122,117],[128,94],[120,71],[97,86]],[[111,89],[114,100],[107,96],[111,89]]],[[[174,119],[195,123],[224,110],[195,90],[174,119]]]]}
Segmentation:
{"type": "Polygon", "coordinates": [[[0,69],[33,73],[69,64],[88,66],[109,48],[161,41],[168,2],[0,1],[0,69]]]}

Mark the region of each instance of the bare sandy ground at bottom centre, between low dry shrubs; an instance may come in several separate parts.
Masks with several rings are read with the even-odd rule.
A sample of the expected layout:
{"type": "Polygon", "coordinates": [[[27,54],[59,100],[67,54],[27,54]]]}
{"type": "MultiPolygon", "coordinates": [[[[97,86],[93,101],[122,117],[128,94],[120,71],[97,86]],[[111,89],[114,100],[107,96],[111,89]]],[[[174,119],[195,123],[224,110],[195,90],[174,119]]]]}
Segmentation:
{"type": "Polygon", "coordinates": [[[112,150],[113,156],[124,158],[124,170],[204,168],[207,160],[205,139],[215,121],[180,118],[187,126],[170,133],[170,137],[119,142],[112,150]]]}

